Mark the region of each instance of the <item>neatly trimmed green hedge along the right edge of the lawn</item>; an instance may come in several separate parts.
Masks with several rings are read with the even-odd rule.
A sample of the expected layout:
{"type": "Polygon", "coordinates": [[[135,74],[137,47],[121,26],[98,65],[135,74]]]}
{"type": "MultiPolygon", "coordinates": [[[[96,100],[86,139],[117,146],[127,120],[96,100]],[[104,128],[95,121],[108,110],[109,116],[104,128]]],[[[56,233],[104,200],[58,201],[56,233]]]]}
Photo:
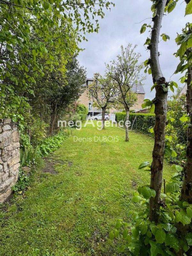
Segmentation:
{"type": "MultiPolygon", "coordinates": [[[[116,121],[124,121],[125,120],[126,113],[125,112],[118,112],[116,113],[116,121]]],[[[135,113],[129,114],[129,121],[131,122],[131,125],[133,124],[133,130],[137,130],[143,133],[149,133],[148,128],[153,127],[155,125],[155,114],[143,114],[138,113],[135,115],[135,113]],[[133,121],[135,119],[135,116],[137,117],[137,121],[135,120],[134,124],[133,121]]],[[[130,128],[131,129],[131,128],[130,128]]]]}

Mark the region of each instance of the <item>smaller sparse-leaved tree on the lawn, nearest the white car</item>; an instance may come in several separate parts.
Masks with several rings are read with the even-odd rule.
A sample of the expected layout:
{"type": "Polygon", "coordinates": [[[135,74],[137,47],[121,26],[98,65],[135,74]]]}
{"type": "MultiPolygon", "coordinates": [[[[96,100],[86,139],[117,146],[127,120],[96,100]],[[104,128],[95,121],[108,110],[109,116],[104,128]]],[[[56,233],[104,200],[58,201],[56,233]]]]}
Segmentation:
{"type": "Polygon", "coordinates": [[[94,81],[89,85],[90,96],[96,101],[94,105],[102,109],[102,129],[105,128],[105,111],[114,106],[118,95],[117,86],[114,79],[108,74],[105,77],[99,73],[94,74],[94,81]]]}

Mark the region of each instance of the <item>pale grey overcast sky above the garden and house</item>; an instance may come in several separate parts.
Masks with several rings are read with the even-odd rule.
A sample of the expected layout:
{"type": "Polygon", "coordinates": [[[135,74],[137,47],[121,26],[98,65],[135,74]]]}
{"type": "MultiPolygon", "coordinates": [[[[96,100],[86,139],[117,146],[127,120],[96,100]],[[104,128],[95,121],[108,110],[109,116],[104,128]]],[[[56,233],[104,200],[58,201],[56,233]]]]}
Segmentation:
{"type": "MultiPolygon", "coordinates": [[[[145,20],[140,24],[136,24],[146,18],[151,17],[150,11],[151,1],[149,0],[115,0],[115,7],[111,11],[105,12],[105,18],[100,20],[99,33],[87,35],[88,42],[81,44],[85,48],[79,54],[79,62],[87,69],[87,77],[92,78],[93,74],[99,72],[104,74],[105,62],[108,63],[120,53],[120,45],[126,46],[128,43],[137,44],[137,51],[141,53],[141,61],[149,58],[149,52],[146,51],[143,44],[149,36],[148,30],[140,35],[140,28],[143,23],[148,23],[150,20],[145,20]]],[[[177,51],[177,45],[174,41],[177,32],[185,27],[185,24],[192,19],[190,15],[184,17],[185,2],[179,0],[176,8],[170,14],[164,16],[161,33],[170,36],[170,41],[159,44],[160,64],[164,76],[169,81],[170,76],[174,73],[179,58],[175,58],[173,53],[177,51]]],[[[179,75],[172,76],[171,80],[178,82],[179,75]]],[[[144,89],[146,98],[154,98],[155,91],[150,92],[152,86],[152,77],[147,75],[144,81],[144,89]]]]}

